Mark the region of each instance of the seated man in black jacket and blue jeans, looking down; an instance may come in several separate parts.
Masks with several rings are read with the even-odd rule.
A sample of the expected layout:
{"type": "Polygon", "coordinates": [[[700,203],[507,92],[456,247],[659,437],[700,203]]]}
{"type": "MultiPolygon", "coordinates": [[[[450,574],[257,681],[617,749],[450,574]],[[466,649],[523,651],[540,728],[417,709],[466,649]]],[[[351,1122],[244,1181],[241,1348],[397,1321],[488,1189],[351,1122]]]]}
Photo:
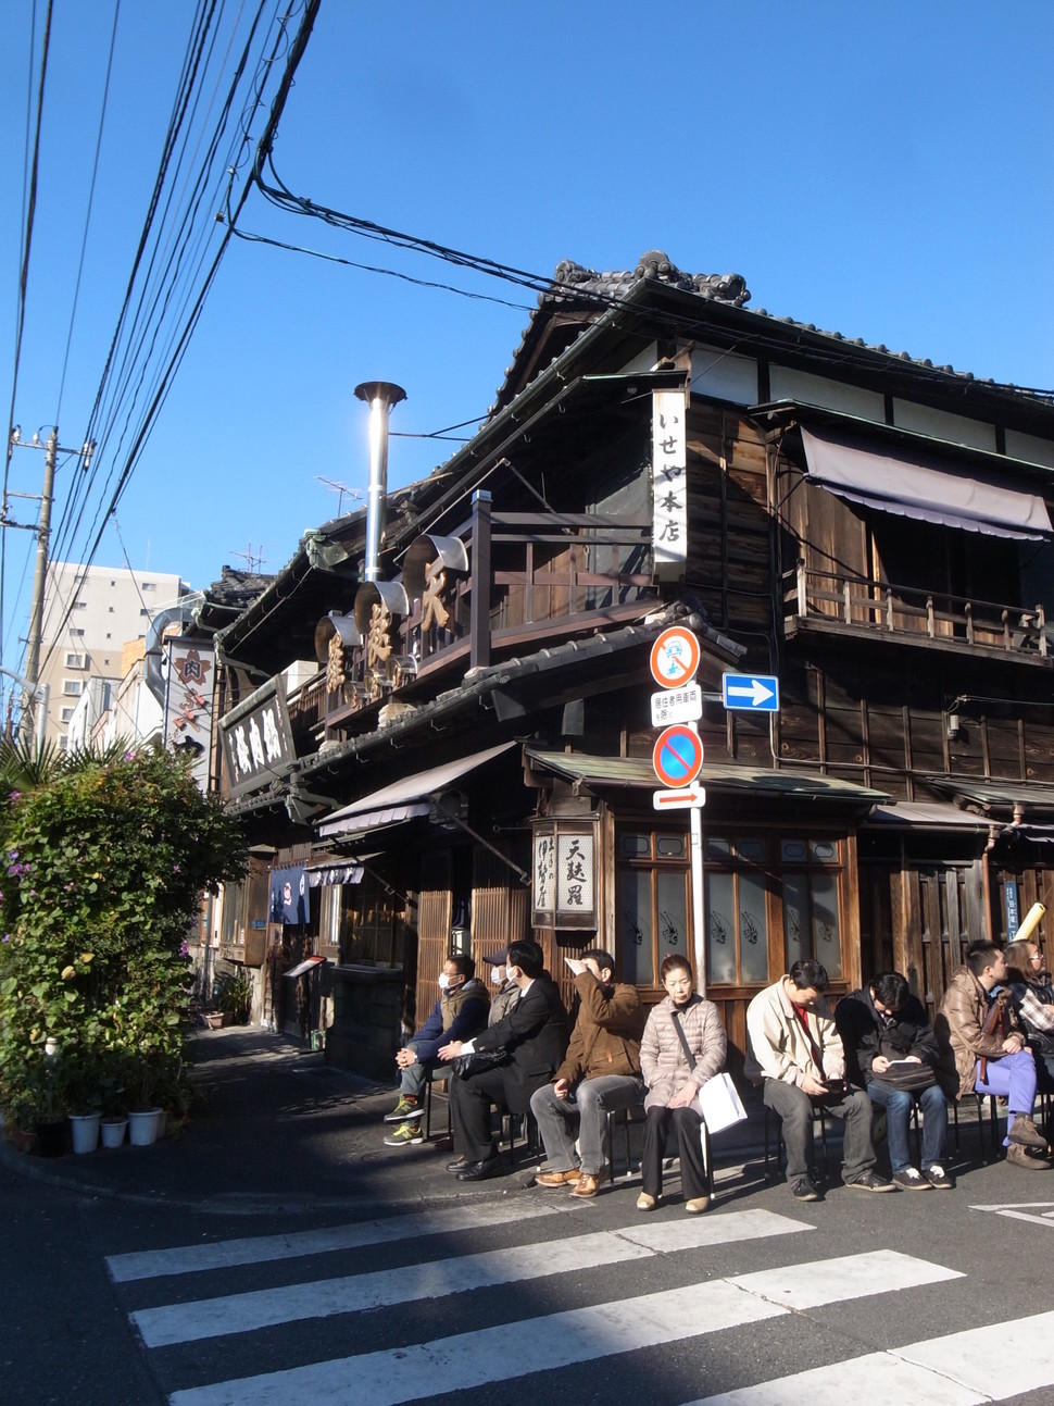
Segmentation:
{"type": "Polygon", "coordinates": [[[863,1084],[871,1102],[885,1109],[894,1184],[902,1191],[949,1189],[951,1180],[943,1167],[947,1099],[933,1073],[940,1057],[937,1038],[906,980],[899,972],[874,977],[838,1002],[835,1025],[850,1078],[863,1084]],[[923,1119],[922,1171],[912,1167],[908,1146],[915,1099],[923,1119]]]}

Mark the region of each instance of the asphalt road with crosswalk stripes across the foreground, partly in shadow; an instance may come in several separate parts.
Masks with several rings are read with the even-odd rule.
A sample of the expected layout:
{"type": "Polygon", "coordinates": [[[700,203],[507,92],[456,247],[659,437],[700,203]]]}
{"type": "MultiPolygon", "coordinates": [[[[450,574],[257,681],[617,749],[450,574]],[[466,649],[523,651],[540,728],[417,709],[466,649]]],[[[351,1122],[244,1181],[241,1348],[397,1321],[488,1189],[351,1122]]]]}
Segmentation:
{"type": "MultiPolygon", "coordinates": [[[[259,1049],[216,1046],[232,1094],[259,1049]]],[[[382,1150],[391,1095],[334,1094],[285,1053],[319,1185],[285,1184],[299,1163],[278,1152],[260,1168],[247,1125],[228,1174],[240,1157],[256,1177],[226,1195],[201,1168],[197,1192],[173,1182],[173,1161],[191,1175],[211,1146],[208,1118],[143,1150],[153,1163],[4,1157],[6,1406],[1054,1400],[1054,1173],[961,1161],[950,1192],[833,1185],[800,1205],[752,1159],[720,1170],[707,1215],[684,1213],[676,1173],[642,1215],[634,1177],[576,1202],[524,1175],[465,1187],[430,1147],[382,1150]]]]}

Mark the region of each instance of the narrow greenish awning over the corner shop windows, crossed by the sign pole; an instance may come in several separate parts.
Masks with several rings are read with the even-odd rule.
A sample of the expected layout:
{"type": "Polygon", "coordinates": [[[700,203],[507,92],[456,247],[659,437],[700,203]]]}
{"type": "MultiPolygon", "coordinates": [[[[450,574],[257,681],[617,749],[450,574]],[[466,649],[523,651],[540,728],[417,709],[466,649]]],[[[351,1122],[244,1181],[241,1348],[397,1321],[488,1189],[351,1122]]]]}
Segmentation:
{"type": "MultiPolygon", "coordinates": [[[[533,766],[549,770],[565,780],[578,782],[590,790],[630,787],[662,790],[646,756],[590,756],[587,752],[547,752],[528,747],[527,759],[533,766]]],[[[755,766],[703,765],[698,785],[715,796],[802,797],[832,801],[885,801],[885,792],[836,780],[819,772],[765,770],[755,766]]]]}

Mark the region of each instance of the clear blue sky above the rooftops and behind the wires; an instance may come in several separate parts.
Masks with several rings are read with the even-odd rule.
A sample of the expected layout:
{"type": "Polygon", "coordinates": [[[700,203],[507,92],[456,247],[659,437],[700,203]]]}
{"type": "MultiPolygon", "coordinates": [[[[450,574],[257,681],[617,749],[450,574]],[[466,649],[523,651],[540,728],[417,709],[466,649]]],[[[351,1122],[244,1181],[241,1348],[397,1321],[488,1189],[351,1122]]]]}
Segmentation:
{"type": "MultiPolygon", "coordinates": [[[[58,422],[63,446],[93,423],[198,11],[191,0],[121,0],[93,191],[115,4],[55,0],[17,378],[27,114],[35,120],[46,6],[21,0],[3,24],[3,399],[24,439],[58,422]]],[[[63,460],[56,485],[58,555],[83,560],[101,531],[97,564],[180,572],[195,588],[249,554],[263,569],[285,562],[308,527],[337,513],[341,499],[322,479],[364,488],[357,382],[408,392],[392,413],[392,485],[441,463],[454,443],[409,436],[486,413],[534,302],[250,193],[243,232],[419,283],[232,239],[132,456],[115,523],[107,517],[223,236],[215,214],[228,165],[239,167],[235,198],[245,190],[238,146],[207,162],[201,134],[256,4],[218,6],[193,135],[159,207],[167,257],[183,247],[174,212],[188,179],[208,173],[169,315],[148,336],[125,326],[104,447],[90,475],[63,460]]],[[[264,7],[266,22],[273,13],[264,7]]],[[[1054,8],[1039,0],[651,10],[322,0],[274,169],[316,204],[538,274],[562,259],[632,269],[662,249],[690,273],[742,273],[755,308],[1051,388],[1053,41],[1054,8]]],[[[263,80],[267,104],[281,66],[263,80]]],[[[261,125],[257,115],[250,146],[261,125]]],[[[145,287],[148,309],[157,284],[145,287]]],[[[15,450],[8,488],[39,492],[41,472],[41,454],[15,450]]],[[[27,499],[8,508],[18,522],[34,513],[27,499]]],[[[6,536],[1,662],[18,668],[34,541],[6,536]]]]}

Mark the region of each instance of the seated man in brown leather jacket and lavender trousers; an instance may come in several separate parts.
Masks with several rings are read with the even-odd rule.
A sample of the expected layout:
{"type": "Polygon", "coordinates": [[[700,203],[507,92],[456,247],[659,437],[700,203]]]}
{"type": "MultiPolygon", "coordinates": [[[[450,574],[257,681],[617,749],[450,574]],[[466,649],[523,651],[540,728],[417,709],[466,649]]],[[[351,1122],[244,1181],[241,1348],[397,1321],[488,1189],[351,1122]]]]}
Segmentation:
{"type": "Polygon", "coordinates": [[[972,942],[965,966],[951,974],[933,1031],[942,1066],[958,1081],[957,1095],[998,1094],[1006,1098],[1006,1160],[1026,1171],[1051,1166],[1047,1139],[1032,1121],[1036,1062],[1013,1011],[1006,962],[991,942],[972,942]]]}

